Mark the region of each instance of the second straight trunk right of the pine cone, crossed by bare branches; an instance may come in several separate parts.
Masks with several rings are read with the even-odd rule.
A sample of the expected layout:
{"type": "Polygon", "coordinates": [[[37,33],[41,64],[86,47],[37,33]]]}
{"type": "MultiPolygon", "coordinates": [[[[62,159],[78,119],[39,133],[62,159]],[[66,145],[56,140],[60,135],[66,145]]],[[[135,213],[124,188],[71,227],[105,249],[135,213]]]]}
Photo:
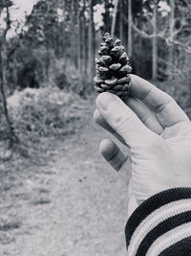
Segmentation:
{"type": "Polygon", "coordinates": [[[153,12],[153,52],[152,52],[152,80],[158,78],[158,37],[157,37],[157,23],[158,23],[158,0],[155,0],[153,12]]]}

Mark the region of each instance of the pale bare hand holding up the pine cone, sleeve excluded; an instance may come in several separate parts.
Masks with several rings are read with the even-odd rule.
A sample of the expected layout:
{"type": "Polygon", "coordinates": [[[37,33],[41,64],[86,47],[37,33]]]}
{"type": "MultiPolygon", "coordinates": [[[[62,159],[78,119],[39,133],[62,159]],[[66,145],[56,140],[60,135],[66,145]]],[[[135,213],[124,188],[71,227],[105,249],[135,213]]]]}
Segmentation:
{"type": "MultiPolygon", "coordinates": [[[[129,93],[125,103],[101,93],[94,118],[131,151],[131,215],[145,199],[191,185],[191,122],[168,94],[148,81],[131,75],[129,93]]],[[[127,155],[113,141],[102,141],[100,151],[115,170],[128,166],[127,155]]]]}

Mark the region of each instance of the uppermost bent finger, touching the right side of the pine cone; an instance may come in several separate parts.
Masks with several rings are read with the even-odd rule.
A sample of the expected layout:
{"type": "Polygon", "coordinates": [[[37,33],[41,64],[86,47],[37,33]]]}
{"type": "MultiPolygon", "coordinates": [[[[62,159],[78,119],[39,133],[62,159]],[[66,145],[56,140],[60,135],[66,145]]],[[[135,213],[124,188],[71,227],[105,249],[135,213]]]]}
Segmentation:
{"type": "Polygon", "coordinates": [[[163,128],[189,121],[180,106],[167,93],[138,76],[131,75],[129,92],[155,111],[163,128]]]}

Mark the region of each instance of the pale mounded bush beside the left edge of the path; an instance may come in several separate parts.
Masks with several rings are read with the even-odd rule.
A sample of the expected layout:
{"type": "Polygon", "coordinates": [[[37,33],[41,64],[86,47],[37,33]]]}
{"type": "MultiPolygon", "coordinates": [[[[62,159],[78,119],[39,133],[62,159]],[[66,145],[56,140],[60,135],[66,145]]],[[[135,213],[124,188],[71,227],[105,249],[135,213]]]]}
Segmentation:
{"type": "Polygon", "coordinates": [[[60,136],[73,132],[74,121],[80,119],[80,104],[76,94],[56,87],[27,88],[9,98],[11,120],[17,135],[28,139],[38,136],[60,136]]]}

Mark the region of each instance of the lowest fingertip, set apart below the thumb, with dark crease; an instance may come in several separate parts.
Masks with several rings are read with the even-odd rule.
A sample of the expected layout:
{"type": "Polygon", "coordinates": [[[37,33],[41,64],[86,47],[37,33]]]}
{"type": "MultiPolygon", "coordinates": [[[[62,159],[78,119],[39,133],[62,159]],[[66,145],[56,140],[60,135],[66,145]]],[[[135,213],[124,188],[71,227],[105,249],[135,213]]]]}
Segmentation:
{"type": "Polygon", "coordinates": [[[99,151],[105,160],[116,170],[119,171],[127,156],[119,150],[116,143],[111,140],[105,139],[100,143],[99,151]]]}

